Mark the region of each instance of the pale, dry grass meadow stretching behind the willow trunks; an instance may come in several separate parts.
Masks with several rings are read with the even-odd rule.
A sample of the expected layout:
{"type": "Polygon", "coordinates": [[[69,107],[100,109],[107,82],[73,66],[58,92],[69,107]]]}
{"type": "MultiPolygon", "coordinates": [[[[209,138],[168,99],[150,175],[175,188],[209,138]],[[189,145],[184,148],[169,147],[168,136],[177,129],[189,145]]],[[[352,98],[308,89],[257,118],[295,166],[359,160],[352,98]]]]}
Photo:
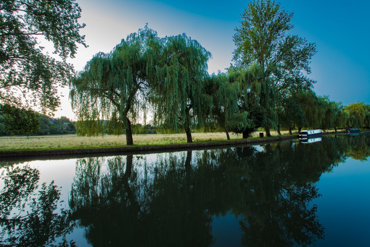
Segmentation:
{"type": "MultiPolygon", "coordinates": [[[[262,131],[260,131],[262,132],[262,131]]],[[[254,134],[258,137],[259,131],[254,134]]],[[[276,131],[271,131],[277,136],[276,131]]],[[[287,131],[282,131],[287,134],[287,131]]],[[[293,131],[297,134],[297,131],[293,131]]],[[[226,141],[225,133],[192,133],[193,142],[226,141]]],[[[241,139],[242,136],[230,135],[232,140],[241,139]]],[[[133,135],[135,146],[166,145],[186,143],[186,134],[146,134],[133,135]]],[[[75,134],[57,136],[30,136],[30,137],[0,137],[0,151],[16,150],[50,150],[66,148],[98,148],[98,147],[124,147],[126,136],[100,136],[82,137],[75,134]]]]}

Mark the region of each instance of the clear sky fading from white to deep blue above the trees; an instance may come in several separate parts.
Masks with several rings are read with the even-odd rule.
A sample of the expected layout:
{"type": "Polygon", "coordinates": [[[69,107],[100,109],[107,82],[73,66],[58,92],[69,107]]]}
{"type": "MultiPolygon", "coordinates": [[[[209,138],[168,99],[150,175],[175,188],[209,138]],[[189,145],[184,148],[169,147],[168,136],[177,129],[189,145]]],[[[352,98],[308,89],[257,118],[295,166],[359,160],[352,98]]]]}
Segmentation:
{"type": "MultiPolygon", "coordinates": [[[[78,49],[68,62],[75,70],[100,51],[109,52],[128,34],[137,32],[145,23],[159,37],[186,33],[212,53],[209,73],[225,72],[235,49],[233,35],[240,26],[240,14],[250,1],[195,0],[76,0],[80,5],[80,23],[86,27],[88,48],[78,49]],[[226,4],[225,4],[226,3],[226,4]]],[[[314,91],[329,95],[344,105],[363,101],[370,103],[370,0],[296,1],[281,0],[281,7],[294,12],[289,34],[316,43],[317,53],[310,63],[310,79],[316,80],[314,91]]],[[[61,109],[55,117],[75,119],[68,100],[68,89],[61,94],[61,109]]]]}

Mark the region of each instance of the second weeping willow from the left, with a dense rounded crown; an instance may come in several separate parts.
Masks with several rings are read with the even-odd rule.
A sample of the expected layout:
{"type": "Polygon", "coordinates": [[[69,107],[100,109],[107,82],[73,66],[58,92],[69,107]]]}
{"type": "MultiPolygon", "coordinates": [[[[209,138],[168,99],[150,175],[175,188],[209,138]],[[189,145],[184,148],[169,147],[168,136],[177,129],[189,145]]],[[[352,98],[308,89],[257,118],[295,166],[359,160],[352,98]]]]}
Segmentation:
{"type": "Polygon", "coordinates": [[[205,92],[211,53],[185,33],[162,41],[160,63],[148,94],[154,122],[175,130],[184,128],[191,143],[191,126],[205,123],[212,104],[205,92]]]}

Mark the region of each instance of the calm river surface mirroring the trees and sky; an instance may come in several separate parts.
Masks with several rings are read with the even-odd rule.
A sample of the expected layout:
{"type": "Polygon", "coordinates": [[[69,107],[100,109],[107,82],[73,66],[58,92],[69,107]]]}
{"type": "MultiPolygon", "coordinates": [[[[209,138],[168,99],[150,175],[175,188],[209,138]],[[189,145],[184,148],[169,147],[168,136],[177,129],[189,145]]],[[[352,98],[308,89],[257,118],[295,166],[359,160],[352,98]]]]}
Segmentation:
{"type": "Polygon", "coordinates": [[[369,246],[369,156],[362,134],[2,161],[0,246],[369,246]]]}

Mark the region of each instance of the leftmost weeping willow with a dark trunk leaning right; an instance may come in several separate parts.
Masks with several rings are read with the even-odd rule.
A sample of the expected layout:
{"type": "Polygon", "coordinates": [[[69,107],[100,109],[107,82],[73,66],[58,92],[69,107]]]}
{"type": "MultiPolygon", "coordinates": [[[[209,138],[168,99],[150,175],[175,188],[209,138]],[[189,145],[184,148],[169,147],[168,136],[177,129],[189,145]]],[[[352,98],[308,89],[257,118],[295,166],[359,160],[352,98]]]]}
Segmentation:
{"type": "Polygon", "coordinates": [[[141,111],[145,118],[145,94],[155,77],[159,40],[157,32],[145,26],[110,53],[96,54],[75,75],[70,98],[79,135],[104,134],[106,128],[108,134],[125,132],[127,145],[133,144],[131,123],[141,111]]]}

